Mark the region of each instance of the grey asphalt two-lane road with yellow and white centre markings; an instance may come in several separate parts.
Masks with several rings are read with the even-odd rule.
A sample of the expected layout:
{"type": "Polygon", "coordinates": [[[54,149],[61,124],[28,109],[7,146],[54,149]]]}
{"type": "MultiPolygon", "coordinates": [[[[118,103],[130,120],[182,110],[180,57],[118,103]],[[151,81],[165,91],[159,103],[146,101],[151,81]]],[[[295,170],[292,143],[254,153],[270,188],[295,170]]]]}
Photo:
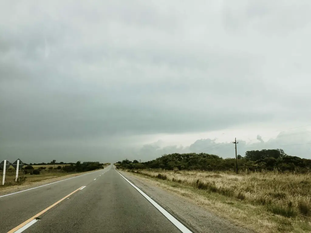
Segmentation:
{"type": "Polygon", "coordinates": [[[110,165],[0,197],[0,232],[188,231],[184,226],[179,230],[176,225],[181,223],[165,217],[165,210],[160,212],[151,202],[110,165]]]}

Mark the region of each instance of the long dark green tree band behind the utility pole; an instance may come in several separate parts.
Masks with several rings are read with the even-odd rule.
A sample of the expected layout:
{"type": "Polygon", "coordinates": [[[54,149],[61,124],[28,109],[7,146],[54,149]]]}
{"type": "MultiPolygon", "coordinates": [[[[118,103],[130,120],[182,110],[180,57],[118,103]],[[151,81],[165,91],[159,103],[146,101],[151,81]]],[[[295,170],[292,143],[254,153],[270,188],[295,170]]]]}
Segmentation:
{"type": "MultiPolygon", "coordinates": [[[[299,171],[307,172],[311,168],[311,159],[289,156],[282,149],[247,151],[245,156],[238,155],[239,169],[250,171],[299,171]]],[[[117,162],[117,167],[125,169],[162,168],[166,170],[235,170],[235,158],[221,158],[207,153],[165,154],[148,162],[139,163],[125,159],[117,162]]]]}

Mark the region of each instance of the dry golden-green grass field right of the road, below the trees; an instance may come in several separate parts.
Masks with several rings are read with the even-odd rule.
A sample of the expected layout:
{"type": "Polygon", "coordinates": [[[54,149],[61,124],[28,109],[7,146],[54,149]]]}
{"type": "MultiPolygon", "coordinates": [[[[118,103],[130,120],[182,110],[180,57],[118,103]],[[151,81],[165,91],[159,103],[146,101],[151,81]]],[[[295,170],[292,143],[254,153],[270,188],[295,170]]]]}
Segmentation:
{"type": "Polygon", "coordinates": [[[311,174],[128,170],[256,232],[311,232],[311,174]]]}

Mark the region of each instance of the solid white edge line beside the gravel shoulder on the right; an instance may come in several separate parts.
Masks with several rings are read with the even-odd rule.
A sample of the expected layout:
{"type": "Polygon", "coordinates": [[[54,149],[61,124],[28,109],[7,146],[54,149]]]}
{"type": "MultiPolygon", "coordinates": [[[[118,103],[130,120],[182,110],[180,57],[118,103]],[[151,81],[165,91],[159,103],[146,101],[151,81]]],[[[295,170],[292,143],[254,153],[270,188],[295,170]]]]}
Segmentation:
{"type": "MultiPolygon", "coordinates": [[[[114,170],[118,172],[115,168],[114,170]]],[[[181,222],[179,222],[176,218],[174,218],[169,212],[167,212],[163,207],[161,207],[158,203],[148,197],[142,190],[133,185],[128,179],[126,179],[120,172],[118,172],[120,176],[123,177],[124,180],[128,181],[130,185],[132,185],[140,194],[143,195],[154,207],[156,207],[170,222],[172,222],[181,232],[183,233],[192,233],[186,226],[184,226],[181,222]]]]}

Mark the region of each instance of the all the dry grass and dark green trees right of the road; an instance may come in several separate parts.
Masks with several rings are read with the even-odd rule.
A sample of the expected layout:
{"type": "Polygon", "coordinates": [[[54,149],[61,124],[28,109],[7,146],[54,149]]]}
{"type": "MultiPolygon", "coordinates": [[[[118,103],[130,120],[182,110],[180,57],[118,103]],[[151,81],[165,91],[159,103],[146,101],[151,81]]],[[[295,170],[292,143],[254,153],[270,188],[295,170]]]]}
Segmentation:
{"type": "Polygon", "coordinates": [[[254,231],[311,232],[311,160],[267,151],[240,157],[238,175],[235,159],[209,154],[170,154],[144,163],[126,159],[115,165],[254,231]]]}

